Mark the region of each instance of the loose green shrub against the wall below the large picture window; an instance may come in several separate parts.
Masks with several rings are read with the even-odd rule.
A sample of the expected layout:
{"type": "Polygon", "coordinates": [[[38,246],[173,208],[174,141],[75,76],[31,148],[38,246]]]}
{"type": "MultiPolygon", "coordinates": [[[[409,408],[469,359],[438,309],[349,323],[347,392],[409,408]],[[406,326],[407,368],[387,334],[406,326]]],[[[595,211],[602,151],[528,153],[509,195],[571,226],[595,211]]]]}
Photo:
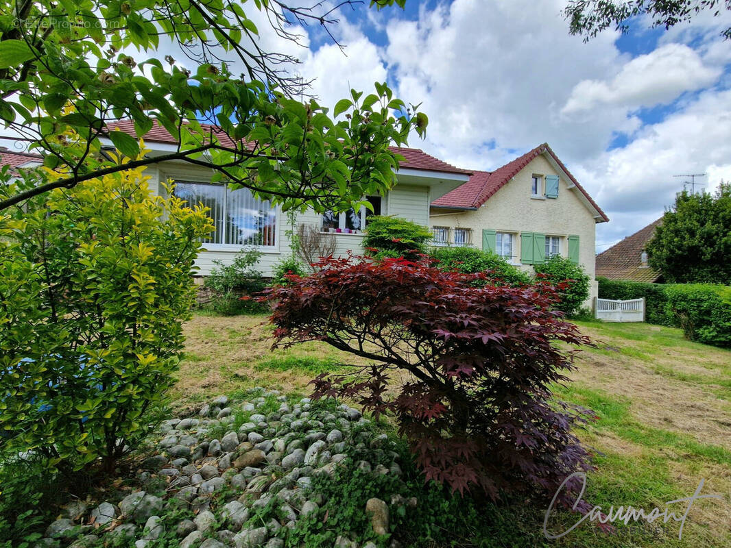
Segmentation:
{"type": "Polygon", "coordinates": [[[221,316],[235,316],[266,311],[257,300],[246,298],[257,294],[266,286],[262,273],[256,269],[261,256],[261,251],[247,248],[241,250],[230,265],[213,261],[216,267],[205,278],[205,286],[213,292],[211,308],[214,312],[221,316]]]}

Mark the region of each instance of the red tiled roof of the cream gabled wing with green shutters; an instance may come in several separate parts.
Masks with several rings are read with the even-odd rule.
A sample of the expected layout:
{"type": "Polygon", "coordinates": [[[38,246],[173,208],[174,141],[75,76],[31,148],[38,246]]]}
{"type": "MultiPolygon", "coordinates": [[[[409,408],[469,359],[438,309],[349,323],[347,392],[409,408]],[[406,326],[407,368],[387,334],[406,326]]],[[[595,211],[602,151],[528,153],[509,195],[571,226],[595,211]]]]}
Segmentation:
{"type": "Polygon", "coordinates": [[[515,175],[518,175],[523,167],[526,167],[534,158],[540,154],[547,153],[556,161],[558,167],[561,167],[571,180],[575,184],[576,188],[586,197],[591,206],[596,210],[596,213],[602,218],[603,221],[609,221],[607,215],[596,205],[594,199],[589,196],[588,192],[584,190],[583,186],[575,179],[571,172],[567,170],[564,163],[558,159],[556,153],[554,153],[548,143],[543,143],[537,146],[532,151],[526,152],[523,156],[519,156],[513,161],[509,161],[503,167],[499,167],[493,172],[489,171],[473,171],[469,181],[454,189],[451,192],[447,192],[439,199],[431,202],[431,205],[435,208],[457,208],[457,209],[477,209],[482,204],[488,201],[493,194],[499,191],[505,184],[510,181],[515,175]]]}

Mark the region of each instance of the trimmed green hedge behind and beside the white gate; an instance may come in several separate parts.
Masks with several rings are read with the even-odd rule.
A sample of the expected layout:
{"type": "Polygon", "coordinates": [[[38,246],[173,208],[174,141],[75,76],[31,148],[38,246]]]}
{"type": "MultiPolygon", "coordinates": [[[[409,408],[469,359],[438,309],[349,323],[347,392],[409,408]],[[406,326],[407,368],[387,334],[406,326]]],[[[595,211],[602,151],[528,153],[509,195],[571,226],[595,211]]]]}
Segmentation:
{"type": "Polygon", "coordinates": [[[731,347],[731,287],[710,283],[643,283],[596,278],[602,299],[645,297],[645,320],[681,327],[689,340],[731,347]]]}

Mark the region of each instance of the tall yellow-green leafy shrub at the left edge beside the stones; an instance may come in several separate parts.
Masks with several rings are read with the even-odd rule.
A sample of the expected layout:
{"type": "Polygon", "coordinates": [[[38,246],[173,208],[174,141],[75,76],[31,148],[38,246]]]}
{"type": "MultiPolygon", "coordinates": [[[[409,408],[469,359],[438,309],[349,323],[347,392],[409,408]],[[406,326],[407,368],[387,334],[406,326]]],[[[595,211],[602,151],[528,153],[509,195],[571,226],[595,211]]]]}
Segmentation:
{"type": "Polygon", "coordinates": [[[202,209],[152,197],[141,169],[0,216],[2,454],[110,471],[137,445],[175,381],[211,229],[202,209]]]}

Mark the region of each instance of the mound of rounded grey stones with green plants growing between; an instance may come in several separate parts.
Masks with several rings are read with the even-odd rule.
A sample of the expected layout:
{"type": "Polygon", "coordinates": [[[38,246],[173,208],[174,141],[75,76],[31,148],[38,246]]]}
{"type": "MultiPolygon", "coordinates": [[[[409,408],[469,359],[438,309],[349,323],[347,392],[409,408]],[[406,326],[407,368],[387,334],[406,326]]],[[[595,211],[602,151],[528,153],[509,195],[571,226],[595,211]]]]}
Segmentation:
{"type": "Polygon", "coordinates": [[[35,546],[401,546],[393,531],[420,504],[406,452],[357,409],[252,389],[187,411],[159,425],[124,490],[69,501],[35,546]]]}

